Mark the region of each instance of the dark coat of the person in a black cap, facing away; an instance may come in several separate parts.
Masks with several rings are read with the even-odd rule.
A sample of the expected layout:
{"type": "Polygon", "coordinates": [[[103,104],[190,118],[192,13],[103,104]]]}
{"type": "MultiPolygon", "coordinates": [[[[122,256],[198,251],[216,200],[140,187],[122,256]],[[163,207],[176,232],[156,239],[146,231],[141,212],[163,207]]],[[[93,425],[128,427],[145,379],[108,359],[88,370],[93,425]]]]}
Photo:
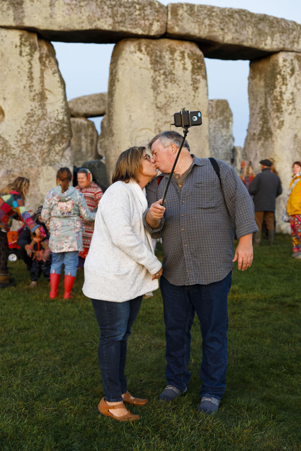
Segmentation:
{"type": "Polygon", "coordinates": [[[282,193],[281,181],[270,168],[264,168],[250,183],[249,193],[254,196],[255,212],[274,212],[276,198],[282,193]]]}

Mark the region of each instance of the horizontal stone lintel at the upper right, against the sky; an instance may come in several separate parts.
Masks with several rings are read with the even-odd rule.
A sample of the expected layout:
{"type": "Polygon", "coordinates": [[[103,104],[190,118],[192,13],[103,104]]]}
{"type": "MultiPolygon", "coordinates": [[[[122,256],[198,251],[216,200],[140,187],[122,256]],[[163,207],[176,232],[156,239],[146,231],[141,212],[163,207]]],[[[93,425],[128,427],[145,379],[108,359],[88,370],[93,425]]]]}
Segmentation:
{"type": "Polygon", "coordinates": [[[167,6],[167,37],[198,42],[206,58],[253,60],[301,52],[301,25],[246,9],[189,3],[167,6]]]}

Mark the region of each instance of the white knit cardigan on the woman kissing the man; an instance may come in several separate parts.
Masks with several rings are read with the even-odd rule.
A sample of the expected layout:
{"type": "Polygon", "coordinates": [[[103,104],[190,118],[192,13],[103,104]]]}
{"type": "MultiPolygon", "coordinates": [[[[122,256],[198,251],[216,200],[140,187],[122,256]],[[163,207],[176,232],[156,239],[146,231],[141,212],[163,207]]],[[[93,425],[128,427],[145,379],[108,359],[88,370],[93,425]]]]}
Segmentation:
{"type": "Polygon", "coordinates": [[[104,193],[84,264],[85,296],[124,302],[158,288],[152,275],[162,265],[143,225],[147,207],[145,189],[134,181],[115,182],[104,193]]]}

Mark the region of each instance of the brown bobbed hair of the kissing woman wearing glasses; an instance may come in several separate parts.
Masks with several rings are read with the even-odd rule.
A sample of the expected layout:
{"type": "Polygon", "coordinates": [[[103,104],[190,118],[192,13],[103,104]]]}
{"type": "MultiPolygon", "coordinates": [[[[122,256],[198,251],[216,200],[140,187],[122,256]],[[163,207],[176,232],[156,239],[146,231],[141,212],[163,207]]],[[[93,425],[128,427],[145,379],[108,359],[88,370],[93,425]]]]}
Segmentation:
{"type": "Polygon", "coordinates": [[[141,169],[141,157],[145,153],[145,147],[130,147],[120,154],[113,169],[112,183],[128,183],[130,179],[139,182],[139,171],[141,169]]]}

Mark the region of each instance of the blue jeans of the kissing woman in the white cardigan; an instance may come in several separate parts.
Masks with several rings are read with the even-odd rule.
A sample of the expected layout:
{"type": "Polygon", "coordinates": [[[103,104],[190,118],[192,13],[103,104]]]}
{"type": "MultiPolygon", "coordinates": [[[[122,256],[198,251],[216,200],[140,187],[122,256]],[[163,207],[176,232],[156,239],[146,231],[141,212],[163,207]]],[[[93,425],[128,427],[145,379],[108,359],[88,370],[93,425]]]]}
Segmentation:
{"type": "Polygon", "coordinates": [[[142,296],[125,302],[91,299],[100,329],[98,359],[105,400],[122,401],[126,392],[126,342],[138,315],[142,296]]]}

